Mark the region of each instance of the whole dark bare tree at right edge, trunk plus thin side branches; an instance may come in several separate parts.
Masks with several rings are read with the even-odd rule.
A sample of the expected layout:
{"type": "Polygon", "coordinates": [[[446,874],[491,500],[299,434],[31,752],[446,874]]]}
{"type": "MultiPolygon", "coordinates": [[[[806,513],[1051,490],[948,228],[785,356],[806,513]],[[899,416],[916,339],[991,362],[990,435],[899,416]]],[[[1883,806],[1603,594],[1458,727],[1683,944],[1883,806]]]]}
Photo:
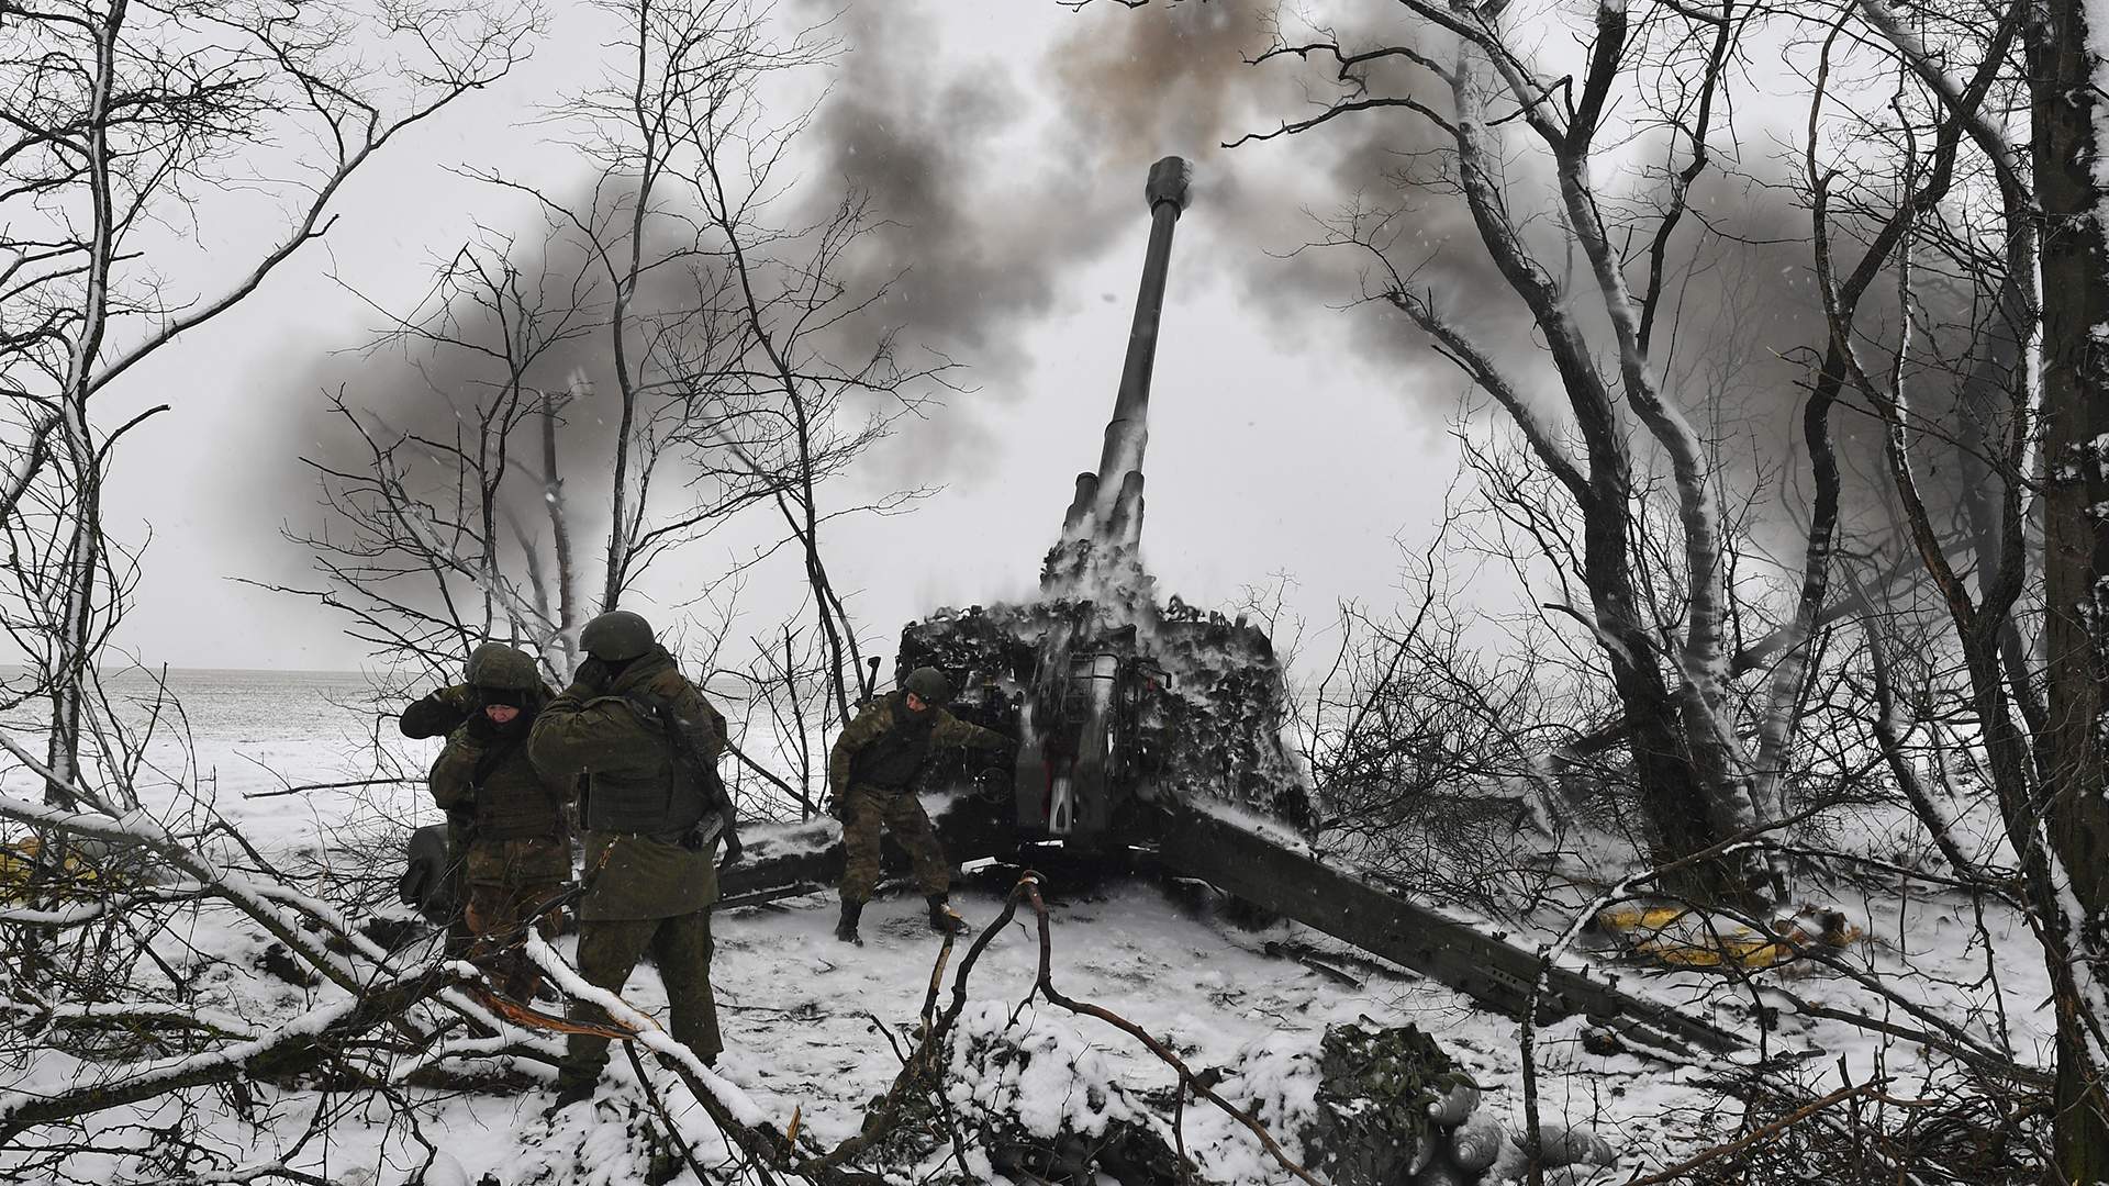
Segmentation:
{"type": "MultiPolygon", "coordinates": [[[[2058,1017],[2056,1169],[2069,1182],[2109,1173],[2109,996],[2098,962],[2109,933],[2109,802],[2103,798],[2103,587],[2105,519],[2101,496],[2109,490],[2101,441],[2101,350],[2094,327],[2109,304],[2109,262],[2092,211],[2098,184],[2086,175],[2092,144],[2092,108],[2101,95],[2092,78],[2088,17],[2077,4],[2012,4],[1991,15],[1991,34],[1978,34],[1953,15],[1930,21],[1879,0],[1858,6],[1869,27],[1888,42],[1917,80],[1928,103],[1959,122],[1993,175],[1999,200],[1995,268],[1997,306],[2012,323],[2014,361],[1999,388],[2008,399],[2006,435],[1993,458],[2001,492],[1999,553],[1987,557],[1976,591],[1938,549],[1911,458],[1913,418],[1900,367],[1888,374],[1854,359],[1854,384],[1890,424],[1890,471],[1915,549],[1940,589],[1953,635],[1968,661],[1972,707],[1985,732],[1991,785],[2006,836],[2020,859],[2023,884],[2058,1017]],[[2018,42],[2018,55],[2014,53],[2018,42]],[[2020,57],[2020,63],[2014,61],[2020,57]],[[1974,72],[1968,82],[1951,61],[1974,72]],[[2025,68],[2023,68],[2025,63],[2025,68]],[[2033,146],[2018,144],[2008,125],[1982,106],[1980,78],[2001,74],[2023,80],[2031,108],[2033,146]],[[2042,454],[2035,452],[2042,424],[2042,454]],[[2031,580],[2027,557],[2027,504],[2042,498],[2044,544],[2044,686],[2018,663],[2014,618],[2025,612],[2031,580]]],[[[1980,17],[1982,21],[1982,17],[1980,17]]],[[[2010,82],[2014,84],[2014,82],[2010,82]]],[[[1921,217],[1913,228],[1934,224],[1921,217]]],[[[1934,224],[1938,226],[1938,224],[1934,224]]],[[[1917,253],[1936,255],[1940,243],[1904,234],[1898,245],[1900,302],[1917,283],[1917,253]]],[[[1909,323],[1907,323],[1909,329],[1909,323]]],[[[1904,346],[1894,350],[1902,357],[1904,346]]]]}

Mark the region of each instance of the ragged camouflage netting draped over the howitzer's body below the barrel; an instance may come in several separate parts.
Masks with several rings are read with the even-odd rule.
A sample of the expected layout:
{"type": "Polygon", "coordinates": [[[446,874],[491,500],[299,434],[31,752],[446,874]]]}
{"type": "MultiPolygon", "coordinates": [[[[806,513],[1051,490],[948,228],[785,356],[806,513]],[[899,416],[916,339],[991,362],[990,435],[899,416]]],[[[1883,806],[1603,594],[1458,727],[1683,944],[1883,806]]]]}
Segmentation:
{"type": "MultiPolygon", "coordinates": [[[[1217,800],[1303,829],[1305,777],[1282,745],[1289,690],[1265,631],[1242,618],[1170,606],[1044,599],[939,610],[901,631],[901,671],[936,667],[957,682],[953,711],[1012,737],[1042,652],[1103,650],[1154,663],[1164,680],[1135,705],[1137,762],[1160,791],[1217,800]]],[[[968,783],[968,758],[932,762],[932,787],[968,783]]]]}

